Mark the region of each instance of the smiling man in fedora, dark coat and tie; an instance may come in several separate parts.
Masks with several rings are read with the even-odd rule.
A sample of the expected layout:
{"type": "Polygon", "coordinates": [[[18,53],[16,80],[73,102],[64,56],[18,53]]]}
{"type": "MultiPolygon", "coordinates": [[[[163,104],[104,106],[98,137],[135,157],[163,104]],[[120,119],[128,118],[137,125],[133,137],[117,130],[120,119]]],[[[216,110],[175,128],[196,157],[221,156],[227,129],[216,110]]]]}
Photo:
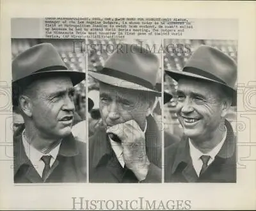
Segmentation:
{"type": "Polygon", "coordinates": [[[177,116],[184,130],[164,150],[165,182],[236,182],[236,136],[226,116],[236,105],[236,62],[201,45],[183,71],[167,71],[178,82],[177,116]]]}

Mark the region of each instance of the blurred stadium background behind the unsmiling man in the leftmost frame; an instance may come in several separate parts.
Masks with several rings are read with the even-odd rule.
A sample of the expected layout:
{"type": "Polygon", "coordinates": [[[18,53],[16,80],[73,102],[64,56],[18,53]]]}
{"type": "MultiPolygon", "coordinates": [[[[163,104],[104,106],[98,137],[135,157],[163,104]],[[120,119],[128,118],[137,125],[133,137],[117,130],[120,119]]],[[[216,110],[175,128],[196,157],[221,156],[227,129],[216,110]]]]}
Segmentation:
{"type": "MultiPolygon", "coordinates": [[[[29,47],[39,43],[51,43],[60,53],[65,65],[69,70],[85,72],[85,56],[81,49],[77,48],[84,40],[68,40],[68,39],[12,39],[12,59],[21,52],[26,51],[29,47]]],[[[76,113],[74,115],[74,125],[79,121],[86,119],[86,97],[85,97],[85,81],[75,86],[74,103],[76,113]]],[[[13,131],[15,132],[19,125],[23,123],[22,116],[15,112],[13,107],[13,131]]],[[[84,128],[85,130],[85,128],[84,128]]]]}

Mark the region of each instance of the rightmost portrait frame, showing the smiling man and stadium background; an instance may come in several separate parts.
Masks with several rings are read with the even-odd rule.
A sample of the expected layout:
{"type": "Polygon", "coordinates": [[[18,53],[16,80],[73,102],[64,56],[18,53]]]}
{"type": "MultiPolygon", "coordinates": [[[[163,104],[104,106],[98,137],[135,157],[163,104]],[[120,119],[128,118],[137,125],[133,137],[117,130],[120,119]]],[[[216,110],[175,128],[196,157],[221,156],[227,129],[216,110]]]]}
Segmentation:
{"type": "Polygon", "coordinates": [[[164,182],[236,183],[237,41],[164,45],[164,182]]]}

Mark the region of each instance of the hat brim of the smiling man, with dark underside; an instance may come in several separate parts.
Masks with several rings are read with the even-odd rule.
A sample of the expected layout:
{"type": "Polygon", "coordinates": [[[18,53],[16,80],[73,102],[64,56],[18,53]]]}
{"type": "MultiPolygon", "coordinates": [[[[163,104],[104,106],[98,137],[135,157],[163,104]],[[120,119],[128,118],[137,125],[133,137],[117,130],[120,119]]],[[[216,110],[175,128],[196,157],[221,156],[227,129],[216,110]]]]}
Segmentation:
{"type": "Polygon", "coordinates": [[[179,81],[179,79],[182,79],[182,78],[193,78],[193,79],[200,79],[200,80],[205,80],[205,81],[211,81],[211,82],[215,82],[217,84],[220,84],[221,86],[223,86],[223,88],[225,88],[228,91],[228,93],[232,97],[232,104],[231,105],[232,106],[236,106],[237,91],[234,90],[233,88],[227,86],[226,84],[223,84],[220,81],[209,79],[207,77],[204,77],[204,76],[201,76],[201,75],[197,75],[197,74],[191,74],[190,72],[172,71],[172,70],[164,70],[164,71],[166,72],[167,75],[172,77],[175,81],[179,81]]]}

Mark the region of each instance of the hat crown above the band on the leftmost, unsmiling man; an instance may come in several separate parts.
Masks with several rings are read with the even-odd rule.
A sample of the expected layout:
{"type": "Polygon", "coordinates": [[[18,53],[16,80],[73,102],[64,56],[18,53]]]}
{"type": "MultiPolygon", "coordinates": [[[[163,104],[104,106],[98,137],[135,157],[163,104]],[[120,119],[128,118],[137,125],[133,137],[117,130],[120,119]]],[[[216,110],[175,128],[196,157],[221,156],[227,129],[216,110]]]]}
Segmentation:
{"type": "Polygon", "coordinates": [[[60,54],[51,43],[34,45],[19,54],[12,62],[12,79],[17,81],[44,68],[56,67],[67,70],[60,54]]]}

